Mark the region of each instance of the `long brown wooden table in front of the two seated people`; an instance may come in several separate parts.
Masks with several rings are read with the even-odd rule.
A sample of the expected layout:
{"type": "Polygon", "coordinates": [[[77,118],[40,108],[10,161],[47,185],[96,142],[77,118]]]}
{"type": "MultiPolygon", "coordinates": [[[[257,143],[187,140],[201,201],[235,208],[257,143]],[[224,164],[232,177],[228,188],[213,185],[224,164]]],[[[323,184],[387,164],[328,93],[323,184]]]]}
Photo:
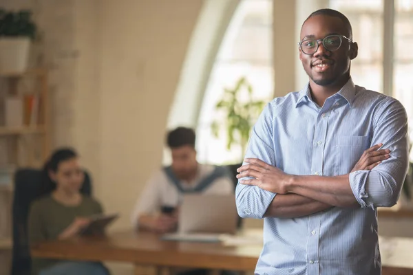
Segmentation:
{"type": "MultiPolygon", "coordinates": [[[[223,245],[161,241],[149,232],[47,241],[32,247],[32,256],[85,261],[121,261],[136,267],[190,267],[212,270],[255,269],[262,245],[223,245]]],[[[381,238],[383,275],[413,274],[413,239],[381,238]]],[[[148,274],[136,268],[136,274],[148,274]]]]}

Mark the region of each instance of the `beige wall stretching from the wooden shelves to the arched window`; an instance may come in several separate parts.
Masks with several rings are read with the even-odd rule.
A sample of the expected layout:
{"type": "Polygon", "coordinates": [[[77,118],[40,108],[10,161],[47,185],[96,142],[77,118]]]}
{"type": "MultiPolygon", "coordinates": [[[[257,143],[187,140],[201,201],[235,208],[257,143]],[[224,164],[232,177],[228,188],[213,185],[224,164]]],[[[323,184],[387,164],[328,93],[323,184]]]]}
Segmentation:
{"type": "Polygon", "coordinates": [[[50,68],[52,147],[71,145],[114,229],[162,159],[167,117],[202,0],[1,0],[30,8],[50,68]]]}

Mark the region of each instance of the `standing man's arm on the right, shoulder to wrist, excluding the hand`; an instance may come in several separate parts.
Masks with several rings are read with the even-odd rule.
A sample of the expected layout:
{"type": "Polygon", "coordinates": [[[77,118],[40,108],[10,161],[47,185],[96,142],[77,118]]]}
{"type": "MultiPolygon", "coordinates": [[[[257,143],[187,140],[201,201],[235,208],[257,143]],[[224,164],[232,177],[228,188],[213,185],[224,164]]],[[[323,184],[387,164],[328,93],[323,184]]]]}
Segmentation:
{"type": "Polygon", "coordinates": [[[338,177],[292,177],[287,192],[334,206],[391,207],[396,204],[408,166],[407,115],[392,100],[374,116],[372,142],[383,142],[390,157],[372,170],[356,170],[338,177]]]}

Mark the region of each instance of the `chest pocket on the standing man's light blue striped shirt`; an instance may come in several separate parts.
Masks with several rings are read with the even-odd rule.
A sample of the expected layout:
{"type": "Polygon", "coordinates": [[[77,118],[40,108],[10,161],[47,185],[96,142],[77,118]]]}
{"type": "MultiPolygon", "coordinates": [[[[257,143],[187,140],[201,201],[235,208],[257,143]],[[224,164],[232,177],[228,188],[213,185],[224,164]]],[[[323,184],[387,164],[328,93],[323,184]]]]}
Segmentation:
{"type": "Polygon", "coordinates": [[[350,173],[363,152],[370,147],[370,138],[361,135],[335,136],[332,142],[335,175],[350,173]]]}

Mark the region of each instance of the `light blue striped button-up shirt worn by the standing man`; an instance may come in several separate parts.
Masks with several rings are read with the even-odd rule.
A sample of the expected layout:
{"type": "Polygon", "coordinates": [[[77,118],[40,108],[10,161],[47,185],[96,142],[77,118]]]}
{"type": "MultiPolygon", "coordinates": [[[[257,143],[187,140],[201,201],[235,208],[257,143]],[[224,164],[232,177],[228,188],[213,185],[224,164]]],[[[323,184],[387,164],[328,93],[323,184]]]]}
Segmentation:
{"type": "MultiPolygon", "coordinates": [[[[253,128],[246,157],[292,175],[350,173],[360,208],[330,208],[294,219],[265,218],[255,274],[379,275],[377,207],[393,206],[407,171],[407,115],[402,104],[355,86],[351,78],[323,107],[308,86],[270,102],[253,128]],[[390,158],[350,173],[363,151],[383,143],[390,158]]],[[[276,194],[238,184],[241,217],[263,218],[276,194]]]]}

